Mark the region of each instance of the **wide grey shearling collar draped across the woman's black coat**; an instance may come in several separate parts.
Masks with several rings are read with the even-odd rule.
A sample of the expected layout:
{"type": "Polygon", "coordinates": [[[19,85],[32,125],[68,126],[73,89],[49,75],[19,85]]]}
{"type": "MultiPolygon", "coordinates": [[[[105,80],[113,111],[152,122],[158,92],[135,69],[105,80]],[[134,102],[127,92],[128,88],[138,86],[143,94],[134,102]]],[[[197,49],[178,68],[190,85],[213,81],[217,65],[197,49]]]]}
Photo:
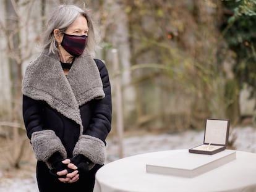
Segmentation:
{"type": "Polygon", "coordinates": [[[62,115],[79,123],[79,106],[92,99],[105,97],[98,67],[92,57],[83,52],[64,75],[58,54],[45,50],[25,71],[22,93],[32,99],[46,101],[62,115]]]}

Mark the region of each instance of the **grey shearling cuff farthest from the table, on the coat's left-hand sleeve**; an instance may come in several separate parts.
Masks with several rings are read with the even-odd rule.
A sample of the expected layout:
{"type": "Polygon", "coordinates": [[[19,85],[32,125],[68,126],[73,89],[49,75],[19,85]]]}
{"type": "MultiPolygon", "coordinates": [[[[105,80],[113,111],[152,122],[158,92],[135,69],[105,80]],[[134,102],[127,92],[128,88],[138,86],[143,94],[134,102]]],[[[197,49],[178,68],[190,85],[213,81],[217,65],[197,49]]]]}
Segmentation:
{"type": "Polygon", "coordinates": [[[43,130],[32,133],[31,143],[38,161],[46,162],[56,151],[58,151],[63,158],[67,157],[66,149],[53,130],[43,130]]]}

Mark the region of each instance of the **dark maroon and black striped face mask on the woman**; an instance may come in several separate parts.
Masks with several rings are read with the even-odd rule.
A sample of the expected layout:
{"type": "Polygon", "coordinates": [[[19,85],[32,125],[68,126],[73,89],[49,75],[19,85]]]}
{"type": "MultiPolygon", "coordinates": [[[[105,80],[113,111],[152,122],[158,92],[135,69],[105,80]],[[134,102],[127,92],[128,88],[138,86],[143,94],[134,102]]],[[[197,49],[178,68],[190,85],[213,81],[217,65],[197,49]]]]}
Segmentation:
{"type": "Polygon", "coordinates": [[[87,35],[68,35],[63,33],[61,46],[74,57],[80,56],[87,44],[87,35]]]}

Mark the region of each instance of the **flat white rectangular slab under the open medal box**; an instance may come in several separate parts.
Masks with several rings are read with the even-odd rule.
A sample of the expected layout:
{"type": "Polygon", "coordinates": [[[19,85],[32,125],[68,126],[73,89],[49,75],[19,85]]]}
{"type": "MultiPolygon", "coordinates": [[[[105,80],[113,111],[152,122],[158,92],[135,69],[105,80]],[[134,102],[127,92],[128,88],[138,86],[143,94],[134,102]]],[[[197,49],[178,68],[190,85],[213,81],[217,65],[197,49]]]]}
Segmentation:
{"type": "Polygon", "coordinates": [[[146,164],[146,170],[148,173],[191,178],[216,169],[235,159],[236,151],[227,149],[211,156],[182,151],[179,152],[179,156],[170,154],[169,156],[161,157],[161,159],[151,159],[146,164]]]}

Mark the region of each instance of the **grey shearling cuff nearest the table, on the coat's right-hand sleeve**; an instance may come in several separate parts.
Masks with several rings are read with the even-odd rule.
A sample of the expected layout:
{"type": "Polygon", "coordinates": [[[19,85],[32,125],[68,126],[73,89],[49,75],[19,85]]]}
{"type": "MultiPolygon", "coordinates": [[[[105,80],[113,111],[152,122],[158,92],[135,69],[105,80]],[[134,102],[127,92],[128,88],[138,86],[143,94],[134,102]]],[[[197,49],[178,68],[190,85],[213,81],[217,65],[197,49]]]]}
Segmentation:
{"type": "Polygon", "coordinates": [[[95,164],[103,165],[106,159],[105,144],[94,136],[81,135],[79,141],[75,144],[73,156],[79,154],[87,157],[95,164]]]}

